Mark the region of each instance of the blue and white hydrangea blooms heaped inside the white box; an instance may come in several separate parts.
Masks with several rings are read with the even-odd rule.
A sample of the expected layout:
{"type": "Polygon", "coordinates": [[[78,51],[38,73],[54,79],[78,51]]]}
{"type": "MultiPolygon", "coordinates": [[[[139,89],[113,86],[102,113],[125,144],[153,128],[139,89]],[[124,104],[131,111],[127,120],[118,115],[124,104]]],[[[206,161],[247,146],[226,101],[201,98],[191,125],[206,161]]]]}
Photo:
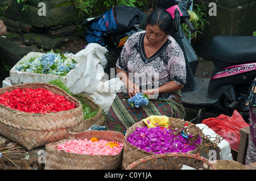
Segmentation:
{"type": "Polygon", "coordinates": [[[75,60],[67,58],[63,54],[48,52],[16,65],[15,70],[64,76],[75,68],[76,64],[75,60]]]}

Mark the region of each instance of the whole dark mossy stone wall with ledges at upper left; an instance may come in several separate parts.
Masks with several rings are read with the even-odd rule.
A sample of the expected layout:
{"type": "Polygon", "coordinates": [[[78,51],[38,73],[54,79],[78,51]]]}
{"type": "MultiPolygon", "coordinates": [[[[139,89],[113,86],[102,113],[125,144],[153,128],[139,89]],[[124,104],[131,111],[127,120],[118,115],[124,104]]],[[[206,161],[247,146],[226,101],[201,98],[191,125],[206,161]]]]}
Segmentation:
{"type": "MultiPolygon", "coordinates": [[[[6,0],[0,0],[0,3],[6,0]]],[[[0,61],[14,66],[28,52],[41,52],[40,49],[51,50],[57,45],[72,39],[77,24],[82,21],[75,3],[69,0],[30,0],[23,4],[11,1],[5,12],[0,12],[0,20],[7,27],[6,37],[0,37],[0,61]],[[42,14],[44,3],[45,14],[42,14]],[[41,12],[41,14],[40,14],[41,12]],[[11,32],[11,33],[10,33],[11,32]],[[26,46],[14,43],[22,39],[26,46]]]]}

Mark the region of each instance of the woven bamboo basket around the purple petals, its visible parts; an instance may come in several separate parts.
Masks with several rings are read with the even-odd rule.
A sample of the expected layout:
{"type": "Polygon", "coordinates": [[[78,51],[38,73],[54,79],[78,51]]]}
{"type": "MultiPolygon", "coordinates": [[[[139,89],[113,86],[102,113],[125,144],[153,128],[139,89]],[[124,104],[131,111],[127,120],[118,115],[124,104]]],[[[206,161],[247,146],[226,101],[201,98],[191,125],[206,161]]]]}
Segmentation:
{"type": "MultiPolygon", "coordinates": [[[[196,125],[193,123],[190,123],[188,121],[184,121],[181,119],[175,119],[175,118],[169,117],[169,124],[171,125],[171,127],[179,128],[185,123],[188,123],[187,128],[190,129],[192,132],[199,130],[199,128],[196,127],[196,125]]],[[[130,134],[132,134],[137,127],[146,127],[146,124],[144,124],[143,121],[139,121],[138,123],[135,123],[134,125],[132,125],[129,129],[127,129],[125,134],[125,145],[123,146],[122,169],[126,169],[131,163],[137,161],[138,159],[154,154],[154,153],[149,153],[147,151],[139,149],[137,146],[134,146],[130,144],[130,142],[126,141],[126,138],[130,134]]],[[[191,154],[201,153],[201,148],[198,147],[195,150],[188,151],[188,153],[191,153],[191,154]]]]}

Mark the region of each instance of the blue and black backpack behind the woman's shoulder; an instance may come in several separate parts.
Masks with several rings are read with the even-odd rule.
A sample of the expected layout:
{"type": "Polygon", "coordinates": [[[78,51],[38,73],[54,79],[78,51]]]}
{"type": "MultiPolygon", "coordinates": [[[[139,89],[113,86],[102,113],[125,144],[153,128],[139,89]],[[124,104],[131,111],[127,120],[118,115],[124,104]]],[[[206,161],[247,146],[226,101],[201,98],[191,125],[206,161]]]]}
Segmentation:
{"type": "Polygon", "coordinates": [[[84,20],[88,30],[84,33],[87,43],[105,45],[102,37],[105,33],[114,35],[129,32],[136,24],[141,24],[147,15],[136,7],[117,5],[95,18],[84,20]]]}

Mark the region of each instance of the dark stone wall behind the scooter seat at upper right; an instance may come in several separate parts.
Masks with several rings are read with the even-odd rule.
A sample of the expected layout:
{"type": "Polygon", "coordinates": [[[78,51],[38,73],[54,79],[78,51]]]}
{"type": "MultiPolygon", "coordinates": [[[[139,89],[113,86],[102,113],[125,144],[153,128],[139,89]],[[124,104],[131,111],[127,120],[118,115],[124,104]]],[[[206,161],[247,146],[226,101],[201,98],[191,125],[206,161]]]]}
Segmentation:
{"type": "Polygon", "coordinates": [[[207,8],[206,19],[210,23],[206,27],[201,41],[193,47],[198,56],[208,58],[207,47],[210,40],[217,35],[252,36],[256,31],[256,1],[251,0],[194,0],[194,4],[204,3],[207,8]],[[210,16],[210,2],[216,3],[216,16],[210,16]]]}

